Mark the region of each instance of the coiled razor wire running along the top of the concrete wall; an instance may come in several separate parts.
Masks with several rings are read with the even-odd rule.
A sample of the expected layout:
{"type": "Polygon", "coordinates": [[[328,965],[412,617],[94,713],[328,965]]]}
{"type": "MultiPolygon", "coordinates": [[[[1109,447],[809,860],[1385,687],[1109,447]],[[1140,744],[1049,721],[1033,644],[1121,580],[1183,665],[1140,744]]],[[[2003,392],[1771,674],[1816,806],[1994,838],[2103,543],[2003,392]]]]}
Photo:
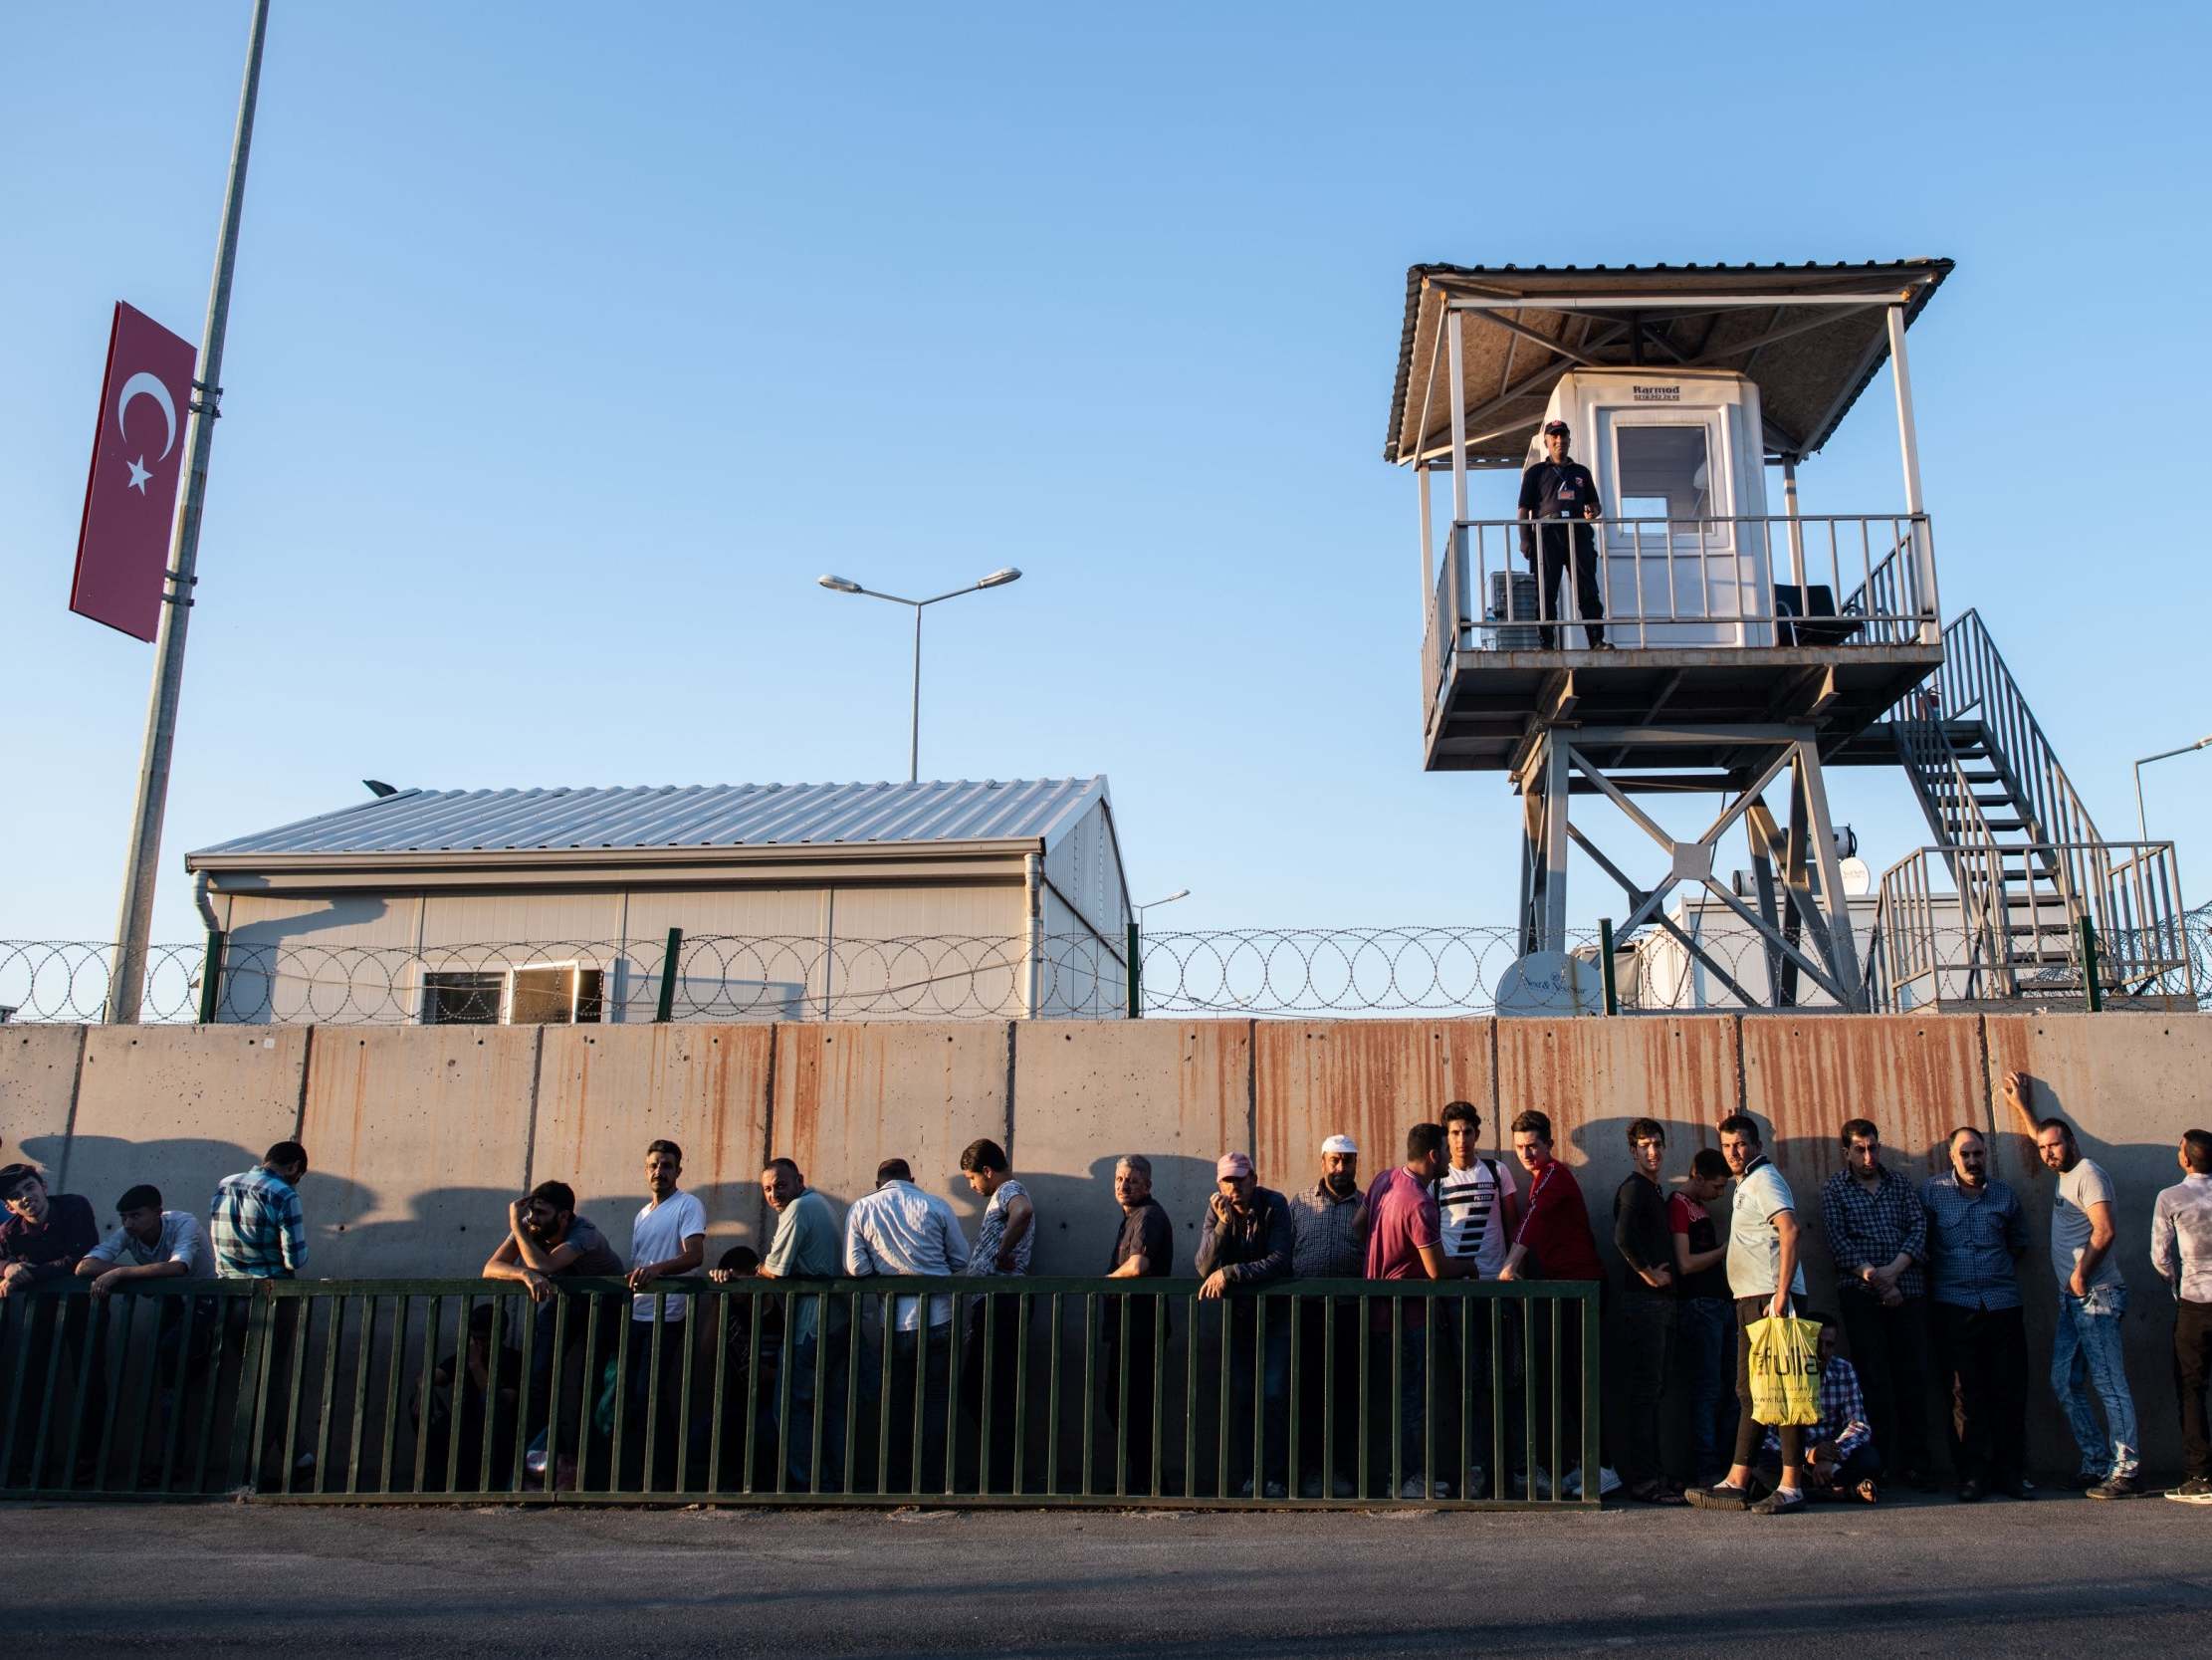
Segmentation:
{"type": "MultiPolygon", "coordinates": [[[[2194,989],[2197,1007],[2212,1009],[2212,905],[2190,912],[2181,934],[2185,943],[2170,927],[2106,941],[2106,1005],[2188,1007],[2194,989]]],[[[1728,932],[1697,943],[1703,958],[1659,930],[1617,943],[1617,1007],[1741,1009],[1736,987],[1770,996],[1783,958],[1763,938],[1728,932]]],[[[1584,996],[1595,1003],[1599,938],[1575,932],[1568,950],[1588,969],[1584,996]]],[[[113,954],[100,941],[0,941],[0,1018],[104,1020],[113,954]]],[[[644,1023],[661,1016],[664,956],[664,938],[323,945],[232,936],[212,1016],[248,1025],[644,1023]]],[[[672,1020],[1119,1018],[1130,1009],[1124,956],[1119,941],[1093,934],[1044,936],[1035,950],[1018,934],[701,934],[681,941],[666,1005],[672,1020]]],[[[1867,956],[1876,1009],[2086,1003],[2079,961],[2066,952],[1997,972],[1960,927],[1891,925],[1867,956]]],[[[201,1018],[204,958],[201,945],[150,947],[139,1018],[201,1018]]],[[[1139,1005],[1150,1016],[1270,1018],[1531,1011],[1500,1000],[1511,996],[1506,969],[1517,958],[1515,927],[1159,932],[1141,941],[1139,1005]]],[[[1801,974],[1798,1003],[1834,998],[1801,974]]]]}

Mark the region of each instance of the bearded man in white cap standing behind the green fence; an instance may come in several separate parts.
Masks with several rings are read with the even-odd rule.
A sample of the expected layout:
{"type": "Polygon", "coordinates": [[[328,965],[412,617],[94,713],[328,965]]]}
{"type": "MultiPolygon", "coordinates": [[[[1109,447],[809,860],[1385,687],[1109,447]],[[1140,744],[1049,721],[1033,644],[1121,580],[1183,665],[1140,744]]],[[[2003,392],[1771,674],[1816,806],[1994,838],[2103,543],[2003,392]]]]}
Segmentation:
{"type": "MultiPolygon", "coordinates": [[[[1321,1180],[1290,1195],[1290,1266],[1298,1279],[1367,1277],[1367,1195],[1360,1193],[1360,1147],[1349,1135],[1321,1144],[1321,1180]]],[[[1352,1498],[1360,1456],[1358,1301],[1312,1297],[1298,1306],[1298,1496],[1352,1498]],[[1334,1330],[1329,1304],[1336,1306],[1334,1330]],[[1323,1419],[1332,1394],[1327,1379],[1334,1379],[1334,1434],[1323,1419]]]]}

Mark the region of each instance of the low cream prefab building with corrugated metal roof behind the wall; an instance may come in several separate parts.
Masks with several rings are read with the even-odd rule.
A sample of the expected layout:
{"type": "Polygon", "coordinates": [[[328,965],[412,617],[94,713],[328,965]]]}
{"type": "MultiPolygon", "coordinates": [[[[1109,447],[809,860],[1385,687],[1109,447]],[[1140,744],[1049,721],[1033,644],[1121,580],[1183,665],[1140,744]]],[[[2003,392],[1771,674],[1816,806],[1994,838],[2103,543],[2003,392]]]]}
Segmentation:
{"type": "Polygon", "coordinates": [[[1115,1016],[1104,777],[398,790],[186,854],[221,1020],[1115,1016]]]}

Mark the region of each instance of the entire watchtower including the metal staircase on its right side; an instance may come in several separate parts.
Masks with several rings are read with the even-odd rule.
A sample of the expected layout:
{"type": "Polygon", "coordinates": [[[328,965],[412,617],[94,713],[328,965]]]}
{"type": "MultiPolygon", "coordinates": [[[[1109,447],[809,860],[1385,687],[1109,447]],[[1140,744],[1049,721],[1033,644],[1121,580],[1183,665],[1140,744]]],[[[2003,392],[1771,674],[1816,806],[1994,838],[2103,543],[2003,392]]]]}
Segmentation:
{"type": "Polygon", "coordinates": [[[1513,781],[1524,954],[1566,947],[1573,845],[1626,892],[1621,938],[1663,930],[1743,1005],[1794,1005],[1801,978],[1845,1009],[2194,998],[2172,843],[2104,841],[1982,620],[1942,622],[1905,332],[1949,272],[1947,259],[1407,272],[1383,454],[1420,491],[1422,753],[1433,772],[1513,781]],[[1801,513],[1798,463],[1885,361],[1902,500],[1801,513]],[[1571,525],[1471,518],[1469,476],[1544,458],[1553,421],[1597,511],[1577,478],[1573,509],[1551,500],[1571,525]],[[1882,874],[1865,967],[1827,806],[1836,764],[1900,766],[1933,837],[1882,874]],[[1767,803],[1776,786],[1785,819],[1767,803]],[[1719,810],[1688,839],[1639,806],[1697,792],[1719,810]],[[1650,879],[1577,815],[1593,797],[1657,843],[1650,879]],[[1752,903],[1717,879],[1739,823],[1752,903]],[[1759,938],[1759,996],[1668,916],[1683,885],[1759,938]]]}

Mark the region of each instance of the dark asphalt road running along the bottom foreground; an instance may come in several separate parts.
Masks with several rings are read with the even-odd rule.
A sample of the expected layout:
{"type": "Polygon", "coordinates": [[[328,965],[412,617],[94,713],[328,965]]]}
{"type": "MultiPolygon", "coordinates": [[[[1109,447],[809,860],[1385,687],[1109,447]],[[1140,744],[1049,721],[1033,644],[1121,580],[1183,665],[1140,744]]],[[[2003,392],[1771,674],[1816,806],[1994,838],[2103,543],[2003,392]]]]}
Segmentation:
{"type": "Polygon", "coordinates": [[[11,1653],[2212,1651],[2212,1507],[1761,1518],[11,1505],[11,1653]]]}

